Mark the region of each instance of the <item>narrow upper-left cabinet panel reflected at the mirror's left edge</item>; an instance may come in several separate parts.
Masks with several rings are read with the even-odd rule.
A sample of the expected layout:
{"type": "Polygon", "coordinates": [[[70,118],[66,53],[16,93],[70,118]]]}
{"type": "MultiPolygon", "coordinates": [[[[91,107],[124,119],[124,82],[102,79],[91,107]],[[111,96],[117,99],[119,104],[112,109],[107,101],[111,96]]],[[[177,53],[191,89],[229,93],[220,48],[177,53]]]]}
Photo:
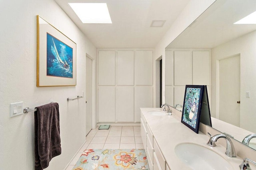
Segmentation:
{"type": "Polygon", "coordinates": [[[174,51],[165,51],[165,85],[173,85],[174,51]]]}

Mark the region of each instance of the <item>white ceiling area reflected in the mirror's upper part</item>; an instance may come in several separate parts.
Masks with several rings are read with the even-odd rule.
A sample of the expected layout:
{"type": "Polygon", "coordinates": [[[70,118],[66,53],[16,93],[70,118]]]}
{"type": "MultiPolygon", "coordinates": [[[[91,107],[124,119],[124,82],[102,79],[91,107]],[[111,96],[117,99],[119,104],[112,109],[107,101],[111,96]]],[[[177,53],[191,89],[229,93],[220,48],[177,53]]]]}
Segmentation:
{"type": "Polygon", "coordinates": [[[256,0],[217,0],[167,48],[212,49],[256,30],[256,24],[233,24],[256,11],[256,0]]]}

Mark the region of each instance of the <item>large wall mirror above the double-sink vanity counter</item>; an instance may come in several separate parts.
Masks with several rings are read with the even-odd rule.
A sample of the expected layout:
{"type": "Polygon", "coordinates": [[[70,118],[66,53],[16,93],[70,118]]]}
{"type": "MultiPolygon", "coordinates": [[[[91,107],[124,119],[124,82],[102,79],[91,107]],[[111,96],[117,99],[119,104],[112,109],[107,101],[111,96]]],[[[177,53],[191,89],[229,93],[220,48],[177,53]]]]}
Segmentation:
{"type": "MultiPolygon", "coordinates": [[[[212,127],[242,142],[256,133],[256,0],[216,0],[165,54],[165,101],[183,104],[186,84],[208,86],[212,127]]],[[[249,147],[256,150],[256,138],[249,147]]]]}

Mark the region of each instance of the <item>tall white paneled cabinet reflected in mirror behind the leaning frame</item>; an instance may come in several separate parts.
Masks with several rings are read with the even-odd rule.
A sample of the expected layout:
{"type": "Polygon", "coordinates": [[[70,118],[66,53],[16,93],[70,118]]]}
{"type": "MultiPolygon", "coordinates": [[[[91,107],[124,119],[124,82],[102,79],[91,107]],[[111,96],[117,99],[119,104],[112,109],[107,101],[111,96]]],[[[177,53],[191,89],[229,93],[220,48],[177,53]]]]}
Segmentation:
{"type": "Polygon", "coordinates": [[[186,85],[207,85],[210,99],[210,49],[166,49],[165,102],[183,105],[186,85]]]}

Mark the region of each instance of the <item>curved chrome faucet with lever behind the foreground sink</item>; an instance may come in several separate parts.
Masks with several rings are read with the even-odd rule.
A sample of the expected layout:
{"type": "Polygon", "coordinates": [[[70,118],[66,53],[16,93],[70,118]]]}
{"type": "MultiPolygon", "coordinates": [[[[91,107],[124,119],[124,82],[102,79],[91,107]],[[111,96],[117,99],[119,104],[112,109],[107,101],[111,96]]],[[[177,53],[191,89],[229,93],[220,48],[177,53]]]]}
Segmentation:
{"type": "MultiPolygon", "coordinates": [[[[210,133],[208,133],[208,134],[210,135],[210,133]]],[[[235,151],[234,145],[233,145],[232,141],[229,139],[229,137],[227,137],[224,134],[218,134],[218,135],[214,135],[214,136],[210,135],[210,140],[208,141],[207,145],[210,145],[211,147],[216,147],[215,142],[221,137],[225,138],[226,142],[227,142],[226,155],[228,155],[232,158],[235,158],[236,151],[235,151]]]]}

